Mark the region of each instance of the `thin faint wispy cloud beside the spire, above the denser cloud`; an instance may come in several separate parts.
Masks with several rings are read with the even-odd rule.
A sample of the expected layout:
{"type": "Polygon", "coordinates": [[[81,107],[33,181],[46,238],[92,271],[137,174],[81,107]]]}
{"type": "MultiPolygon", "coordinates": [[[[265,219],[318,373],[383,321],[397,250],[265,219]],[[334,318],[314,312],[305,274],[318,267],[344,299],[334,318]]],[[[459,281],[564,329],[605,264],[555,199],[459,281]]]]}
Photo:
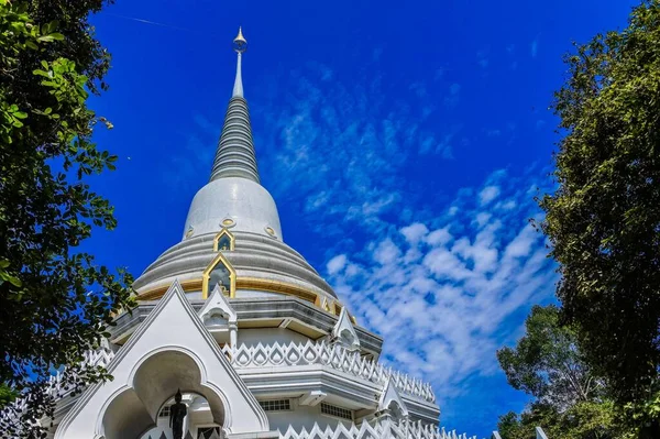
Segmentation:
{"type": "MultiPolygon", "coordinates": [[[[264,131],[276,138],[263,143],[277,144],[260,155],[275,182],[270,189],[276,198],[294,191],[305,197],[304,212],[326,233],[332,232],[327,222],[386,227],[383,218],[409,198],[403,169],[421,155],[451,158],[460,128],[438,133],[425,124],[435,111],[425,83],[407,86],[407,102],[388,102],[378,77],[321,86],[324,68],[309,67],[295,75],[287,105],[266,121],[264,131]]],[[[460,85],[449,86],[454,99],[459,91],[460,85]]]]}

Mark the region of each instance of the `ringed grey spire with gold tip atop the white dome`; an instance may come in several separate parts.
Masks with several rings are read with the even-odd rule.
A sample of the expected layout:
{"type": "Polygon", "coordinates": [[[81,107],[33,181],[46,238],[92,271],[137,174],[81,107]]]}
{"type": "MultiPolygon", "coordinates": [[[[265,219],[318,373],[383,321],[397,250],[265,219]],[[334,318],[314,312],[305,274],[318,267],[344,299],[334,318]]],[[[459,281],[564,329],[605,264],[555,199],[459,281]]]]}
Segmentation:
{"type": "Polygon", "coordinates": [[[241,177],[260,183],[254,143],[252,141],[252,127],[248,101],[243,97],[243,78],[241,75],[241,61],[248,48],[248,41],[239,28],[239,34],[233,40],[237,52],[237,77],[232,97],[229,100],[222,134],[218,142],[216,160],[211,171],[210,180],[226,177],[241,177]]]}

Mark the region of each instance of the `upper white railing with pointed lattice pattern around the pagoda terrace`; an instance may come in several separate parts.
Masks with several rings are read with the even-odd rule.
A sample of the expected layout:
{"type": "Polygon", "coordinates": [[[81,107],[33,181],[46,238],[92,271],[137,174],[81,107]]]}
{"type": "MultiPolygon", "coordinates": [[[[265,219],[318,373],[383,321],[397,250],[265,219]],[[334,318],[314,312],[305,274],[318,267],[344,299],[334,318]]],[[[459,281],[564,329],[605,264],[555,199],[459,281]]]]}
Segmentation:
{"type": "Polygon", "coordinates": [[[339,344],[330,345],[324,341],[275,342],[266,345],[258,343],[251,347],[240,344],[237,348],[226,344],[222,351],[237,369],[322,364],[378,384],[384,384],[392,377],[397,391],[430,403],[436,402],[430,384],[365,359],[359,352],[349,351],[339,344]]]}

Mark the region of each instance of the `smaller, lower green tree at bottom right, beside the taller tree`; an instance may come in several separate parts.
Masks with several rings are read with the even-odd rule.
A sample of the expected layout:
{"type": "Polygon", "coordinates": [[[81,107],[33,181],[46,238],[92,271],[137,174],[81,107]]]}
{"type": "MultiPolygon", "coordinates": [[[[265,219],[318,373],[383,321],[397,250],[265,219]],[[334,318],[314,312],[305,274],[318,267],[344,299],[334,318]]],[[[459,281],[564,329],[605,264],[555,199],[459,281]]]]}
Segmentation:
{"type": "Polygon", "coordinates": [[[535,306],[525,327],[516,347],[497,351],[497,360],[509,384],[534,400],[519,416],[508,413],[501,417],[502,437],[534,438],[536,426],[549,437],[619,437],[604,381],[584,361],[576,333],[561,323],[559,308],[535,306]]]}

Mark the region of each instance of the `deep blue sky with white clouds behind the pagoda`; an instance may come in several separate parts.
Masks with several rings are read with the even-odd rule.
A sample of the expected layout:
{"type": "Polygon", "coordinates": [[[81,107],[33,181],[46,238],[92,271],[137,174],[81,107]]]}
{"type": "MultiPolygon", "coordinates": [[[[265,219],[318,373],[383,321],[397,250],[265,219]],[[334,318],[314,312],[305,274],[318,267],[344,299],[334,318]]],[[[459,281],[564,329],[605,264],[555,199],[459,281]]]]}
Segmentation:
{"type": "Polygon", "coordinates": [[[86,249],[139,275],[182,235],[243,63],[263,185],[285,241],[385,337],[384,361],[433,383],[449,429],[486,436],[525,395],[499,372],[556,281],[538,188],[548,110],[572,41],[634,1],[118,1],[94,19],[113,54],[92,107],[114,124],[96,177],[119,228],[86,249]],[[166,25],[146,24],[129,18],[166,25]]]}

